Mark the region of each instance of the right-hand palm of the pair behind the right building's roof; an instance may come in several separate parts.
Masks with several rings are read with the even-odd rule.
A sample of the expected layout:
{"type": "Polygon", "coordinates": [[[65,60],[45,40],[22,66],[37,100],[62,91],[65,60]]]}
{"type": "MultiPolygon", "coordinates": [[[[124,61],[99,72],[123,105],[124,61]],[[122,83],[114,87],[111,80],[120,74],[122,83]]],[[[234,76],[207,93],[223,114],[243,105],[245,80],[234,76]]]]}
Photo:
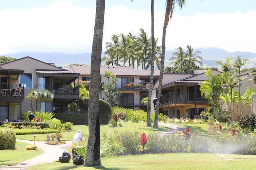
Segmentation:
{"type": "Polygon", "coordinates": [[[194,48],[191,48],[191,46],[187,45],[188,51],[186,52],[186,57],[184,58],[185,67],[188,70],[188,73],[191,73],[190,69],[192,68],[195,70],[197,66],[202,67],[202,60],[203,57],[199,56],[198,54],[201,54],[200,51],[195,51],[194,48]]]}

